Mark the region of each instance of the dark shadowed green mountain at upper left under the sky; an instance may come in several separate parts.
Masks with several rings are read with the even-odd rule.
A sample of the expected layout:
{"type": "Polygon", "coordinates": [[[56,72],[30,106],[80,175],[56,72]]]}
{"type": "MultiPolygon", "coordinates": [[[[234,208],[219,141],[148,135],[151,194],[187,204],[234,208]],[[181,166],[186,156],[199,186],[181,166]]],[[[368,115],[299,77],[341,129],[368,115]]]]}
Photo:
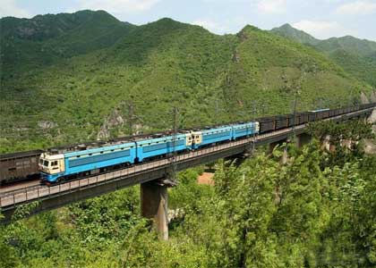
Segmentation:
{"type": "Polygon", "coordinates": [[[135,28],[104,11],[88,10],[30,20],[5,17],[0,27],[2,77],[112,46],[135,28]]]}

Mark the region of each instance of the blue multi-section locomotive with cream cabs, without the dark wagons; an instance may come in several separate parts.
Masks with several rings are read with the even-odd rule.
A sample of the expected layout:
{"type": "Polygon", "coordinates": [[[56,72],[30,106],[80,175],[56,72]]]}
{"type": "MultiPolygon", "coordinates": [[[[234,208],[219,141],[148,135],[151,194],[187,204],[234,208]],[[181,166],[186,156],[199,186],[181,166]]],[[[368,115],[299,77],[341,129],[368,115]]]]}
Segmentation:
{"type": "Polygon", "coordinates": [[[257,134],[259,122],[246,122],[206,130],[187,131],[152,138],[134,138],[105,144],[101,147],[47,151],[40,155],[39,170],[42,181],[54,183],[62,180],[106,172],[109,169],[142,163],[201,147],[209,147],[238,138],[257,134]]]}

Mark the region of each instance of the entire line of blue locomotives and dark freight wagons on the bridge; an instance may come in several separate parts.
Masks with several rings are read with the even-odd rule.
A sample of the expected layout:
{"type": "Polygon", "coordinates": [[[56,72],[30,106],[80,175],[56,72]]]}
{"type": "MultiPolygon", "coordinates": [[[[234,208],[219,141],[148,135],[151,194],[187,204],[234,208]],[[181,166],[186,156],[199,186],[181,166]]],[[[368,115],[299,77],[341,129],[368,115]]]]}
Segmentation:
{"type": "Polygon", "coordinates": [[[320,121],[329,117],[371,108],[376,104],[357,105],[338,109],[317,109],[261,117],[254,121],[237,122],[196,130],[117,138],[68,147],[0,155],[0,182],[27,180],[40,176],[47,185],[73,180],[145,163],[171,154],[180,154],[202,147],[210,147],[239,138],[291,128],[294,125],[320,121]]]}

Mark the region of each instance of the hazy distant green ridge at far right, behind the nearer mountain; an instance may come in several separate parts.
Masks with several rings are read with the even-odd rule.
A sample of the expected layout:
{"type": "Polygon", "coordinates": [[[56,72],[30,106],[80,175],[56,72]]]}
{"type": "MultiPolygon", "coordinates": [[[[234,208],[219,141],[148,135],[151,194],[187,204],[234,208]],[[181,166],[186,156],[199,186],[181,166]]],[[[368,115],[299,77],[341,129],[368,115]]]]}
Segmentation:
{"type": "Polygon", "coordinates": [[[295,41],[310,45],[328,54],[334,62],[351,73],[355,78],[369,83],[376,88],[376,42],[350,36],[319,40],[289,24],[270,30],[271,32],[292,38],[295,41]]]}

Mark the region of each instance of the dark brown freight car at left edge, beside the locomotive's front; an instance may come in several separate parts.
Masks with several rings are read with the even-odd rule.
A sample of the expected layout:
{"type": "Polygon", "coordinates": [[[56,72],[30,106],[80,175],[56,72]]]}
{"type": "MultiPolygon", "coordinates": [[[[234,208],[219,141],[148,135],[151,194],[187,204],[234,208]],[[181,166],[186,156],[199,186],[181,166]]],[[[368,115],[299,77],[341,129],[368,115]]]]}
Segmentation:
{"type": "Polygon", "coordinates": [[[0,184],[39,178],[38,160],[42,150],[0,155],[0,184]]]}

